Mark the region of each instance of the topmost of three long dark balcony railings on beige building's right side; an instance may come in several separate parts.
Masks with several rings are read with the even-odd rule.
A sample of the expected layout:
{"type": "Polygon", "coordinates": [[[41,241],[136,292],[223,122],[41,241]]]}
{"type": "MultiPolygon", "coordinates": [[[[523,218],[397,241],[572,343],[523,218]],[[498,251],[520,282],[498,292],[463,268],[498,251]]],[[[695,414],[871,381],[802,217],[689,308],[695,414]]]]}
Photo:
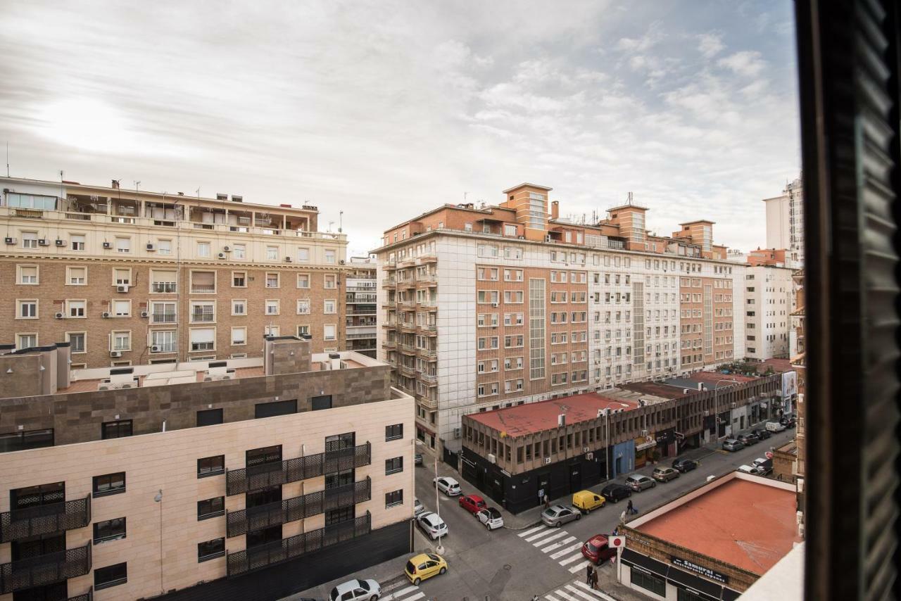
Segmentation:
{"type": "Polygon", "coordinates": [[[369,442],[366,442],[341,451],[326,451],[249,468],[228,469],[225,472],[225,493],[228,496],[240,495],[252,490],[316,478],[333,471],[361,468],[369,465],[371,456],[369,442]]]}

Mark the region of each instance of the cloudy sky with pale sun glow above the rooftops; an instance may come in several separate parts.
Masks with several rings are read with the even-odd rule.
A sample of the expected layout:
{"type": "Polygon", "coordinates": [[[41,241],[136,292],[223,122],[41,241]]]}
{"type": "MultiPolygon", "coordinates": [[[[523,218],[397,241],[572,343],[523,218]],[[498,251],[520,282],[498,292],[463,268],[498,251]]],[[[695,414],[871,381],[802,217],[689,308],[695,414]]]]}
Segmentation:
{"type": "Polygon", "coordinates": [[[800,168],[789,0],[2,4],[13,176],[343,210],[353,252],[523,181],[748,250],[800,168]]]}

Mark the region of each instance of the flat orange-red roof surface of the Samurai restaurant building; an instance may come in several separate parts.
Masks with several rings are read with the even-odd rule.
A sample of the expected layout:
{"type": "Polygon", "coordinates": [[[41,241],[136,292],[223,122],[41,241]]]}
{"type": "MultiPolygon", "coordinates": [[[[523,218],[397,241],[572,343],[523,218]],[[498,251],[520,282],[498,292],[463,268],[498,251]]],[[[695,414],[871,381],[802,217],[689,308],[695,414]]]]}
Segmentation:
{"type": "Polygon", "coordinates": [[[800,542],[793,491],[735,478],[635,530],[762,574],[800,542]]]}

